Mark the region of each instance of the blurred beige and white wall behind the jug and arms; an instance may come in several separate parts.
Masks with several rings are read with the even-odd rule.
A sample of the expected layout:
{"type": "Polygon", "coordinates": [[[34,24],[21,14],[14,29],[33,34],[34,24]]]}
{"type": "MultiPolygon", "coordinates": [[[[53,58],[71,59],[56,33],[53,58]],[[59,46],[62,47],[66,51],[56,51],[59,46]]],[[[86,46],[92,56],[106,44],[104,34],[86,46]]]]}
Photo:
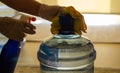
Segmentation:
{"type": "MultiPolygon", "coordinates": [[[[74,6],[81,12],[87,24],[87,33],[97,52],[95,67],[120,69],[120,0],[37,0],[48,5],[74,6]]],[[[0,3],[0,16],[19,18],[18,12],[0,3]]],[[[26,14],[28,15],[28,14],[26,14]]],[[[28,15],[29,16],[29,15],[28,15]]],[[[31,16],[31,15],[30,15],[31,16]]],[[[27,35],[26,44],[21,51],[18,65],[39,66],[37,50],[42,41],[52,36],[50,21],[36,17],[32,22],[35,35],[27,35]]]]}

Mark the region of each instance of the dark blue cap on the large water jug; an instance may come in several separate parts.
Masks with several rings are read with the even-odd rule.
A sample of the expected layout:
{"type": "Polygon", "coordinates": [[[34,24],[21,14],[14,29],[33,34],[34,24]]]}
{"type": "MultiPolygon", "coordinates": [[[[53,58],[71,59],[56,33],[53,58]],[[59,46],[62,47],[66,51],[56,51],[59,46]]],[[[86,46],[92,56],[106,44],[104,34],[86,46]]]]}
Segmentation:
{"type": "Polygon", "coordinates": [[[69,14],[59,16],[60,30],[59,34],[74,34],[74,19],[69,14]]]}

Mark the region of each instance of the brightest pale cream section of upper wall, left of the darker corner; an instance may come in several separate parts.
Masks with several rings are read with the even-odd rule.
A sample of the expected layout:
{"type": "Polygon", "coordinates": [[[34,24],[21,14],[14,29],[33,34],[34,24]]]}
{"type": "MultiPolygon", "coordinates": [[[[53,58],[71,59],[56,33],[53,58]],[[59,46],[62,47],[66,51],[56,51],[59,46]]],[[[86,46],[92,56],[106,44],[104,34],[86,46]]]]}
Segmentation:
{"type": "Polygon", "coordinates": [[[74,6],[80,12],[109,13],[110,0],[58,0],[59,5],[74,6]]]}

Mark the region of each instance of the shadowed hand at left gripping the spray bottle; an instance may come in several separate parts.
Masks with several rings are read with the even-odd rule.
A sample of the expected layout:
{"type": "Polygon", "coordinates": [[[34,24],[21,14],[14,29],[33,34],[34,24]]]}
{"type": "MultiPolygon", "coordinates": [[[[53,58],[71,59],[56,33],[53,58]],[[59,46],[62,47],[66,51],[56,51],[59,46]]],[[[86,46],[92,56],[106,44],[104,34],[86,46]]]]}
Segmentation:
{"type": "Polygon", "coordinates": [[[0,18],[0,33],[9,39],[22,41],[25,34],[35,34],[35,26],[9,17],[0,18]]]}

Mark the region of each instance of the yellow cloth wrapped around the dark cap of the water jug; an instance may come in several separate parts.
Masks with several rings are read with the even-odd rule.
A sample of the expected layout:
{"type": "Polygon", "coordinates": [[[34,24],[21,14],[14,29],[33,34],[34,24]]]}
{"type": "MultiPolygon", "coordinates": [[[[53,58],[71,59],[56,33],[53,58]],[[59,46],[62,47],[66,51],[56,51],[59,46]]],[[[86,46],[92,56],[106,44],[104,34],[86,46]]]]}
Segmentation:
{"type": "Polygon", "coordinates": [[[72,16],[72,18],[74,19],[75,33],[81,35],[82,32],[86,32],[87,26],[84,21],[83,15],[80,12],[78,12],[74,7],[70,6],[70,7],[63,7],[61,12],[59,12],[59,14],[52,19],[51,32],[53,34],[57,34],[60,29],[60,25],[59,25],[60,14],[70,14],[72,16]]]}

